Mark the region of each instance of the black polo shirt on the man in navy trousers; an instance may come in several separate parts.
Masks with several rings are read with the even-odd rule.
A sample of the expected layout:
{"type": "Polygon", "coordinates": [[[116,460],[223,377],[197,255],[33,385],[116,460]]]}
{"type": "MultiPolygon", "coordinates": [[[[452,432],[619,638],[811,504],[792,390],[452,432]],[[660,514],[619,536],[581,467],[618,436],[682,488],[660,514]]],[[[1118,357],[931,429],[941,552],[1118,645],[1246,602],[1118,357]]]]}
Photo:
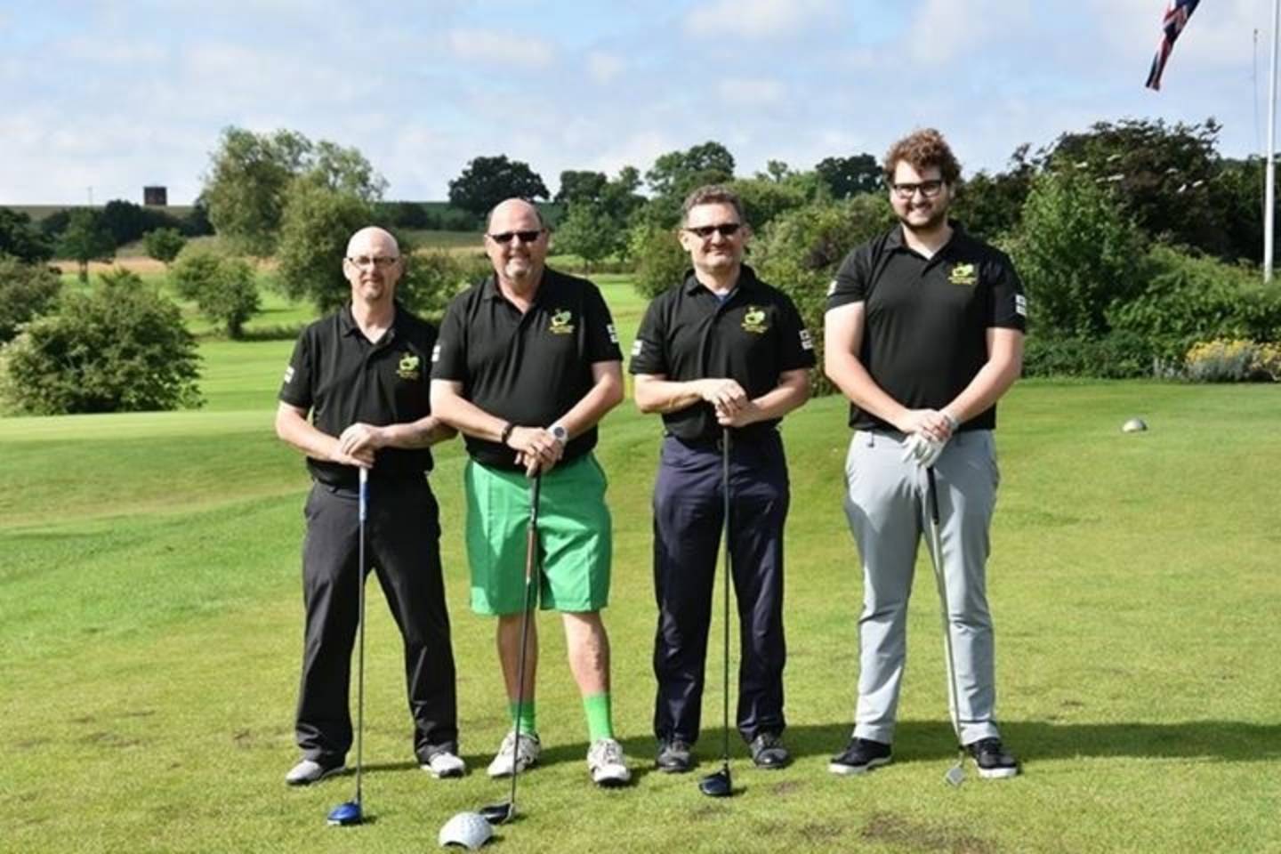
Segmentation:
{"type": "MultiPolygon", "coordinates": [[[[683,283],[655,297],[632,346],[629,370],[681,383],[728,378],[756,398],[776,388],[783,371],[813,364],[813,343],[796,305],[744,264],[724,302],[693,270],[685,273],[683,283]]],[[[716,410],[706,401],[664,412],[662,423],[667,433],[687,442],[721,434],[716,410]]],[[[752,440],[778,424],[779,419],[748,424],[735,430],[735,437],[752,440]]]]}

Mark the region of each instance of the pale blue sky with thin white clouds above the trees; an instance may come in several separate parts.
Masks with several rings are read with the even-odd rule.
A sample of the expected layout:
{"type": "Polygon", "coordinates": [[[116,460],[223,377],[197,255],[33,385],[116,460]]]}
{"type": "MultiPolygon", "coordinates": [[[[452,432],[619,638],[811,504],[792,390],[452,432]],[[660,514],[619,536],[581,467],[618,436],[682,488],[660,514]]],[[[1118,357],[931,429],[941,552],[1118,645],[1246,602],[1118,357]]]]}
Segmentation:
{"type": "Polygon", "coordinates": [[[1266,141],[1272,3],[1205,0],[1159,93],[1164,0],[15,0],[0,6],[0,204],[173,204],[219,131],[359,147],[388,198],[445,198],[477,155],[643,173],[722,142],[739,174],[877,156],[942,129],[966,173],[1123,117],[1266,141]],[[1254,31],[1258,31],[1258,73],[1254,31]]]}

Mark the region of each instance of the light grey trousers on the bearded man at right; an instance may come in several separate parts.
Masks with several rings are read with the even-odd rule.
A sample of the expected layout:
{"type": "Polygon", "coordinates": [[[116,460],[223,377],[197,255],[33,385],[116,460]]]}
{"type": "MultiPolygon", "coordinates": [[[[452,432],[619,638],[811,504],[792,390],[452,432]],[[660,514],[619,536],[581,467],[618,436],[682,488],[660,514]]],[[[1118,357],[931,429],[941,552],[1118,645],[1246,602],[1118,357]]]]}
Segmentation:
{"type": "MultiPolygon", "coordinates": [[[[845,516],[863,563],[854,736],[885,744],[894,740],[917,544],[924,538],[930,548],[925,470],[916,462],[903,462],[904,440],[898,431],[860,430],[845,457],[845,516]]],[[[934,472],[961,743],[972,744],[999,737],[991,615],[984,577],[988,529],[1000,480],[991,431],[953,435],[934,472]]]]}

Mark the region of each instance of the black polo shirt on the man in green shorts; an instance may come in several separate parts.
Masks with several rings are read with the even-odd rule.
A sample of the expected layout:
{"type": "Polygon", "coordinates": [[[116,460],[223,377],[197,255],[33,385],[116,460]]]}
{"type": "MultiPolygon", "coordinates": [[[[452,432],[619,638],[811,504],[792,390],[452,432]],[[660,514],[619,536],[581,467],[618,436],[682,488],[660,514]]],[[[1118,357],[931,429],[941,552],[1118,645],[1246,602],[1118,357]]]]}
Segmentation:
{"type": "MultiPolygon", "coordinates": [[[[450,302],[432,379],[462,383],[462,397],[521,426],[551,426],[592,391],[592,365],[623,361],[614,320],[587,279],[544,269],[521,314],[489,275],[450,302]]],[[[565,460],[596,447],[597,430],[570,439],[565,460]]],[[[468,453],[487,466],[518,470],[515,452],[466,437],[468,453]]]]}

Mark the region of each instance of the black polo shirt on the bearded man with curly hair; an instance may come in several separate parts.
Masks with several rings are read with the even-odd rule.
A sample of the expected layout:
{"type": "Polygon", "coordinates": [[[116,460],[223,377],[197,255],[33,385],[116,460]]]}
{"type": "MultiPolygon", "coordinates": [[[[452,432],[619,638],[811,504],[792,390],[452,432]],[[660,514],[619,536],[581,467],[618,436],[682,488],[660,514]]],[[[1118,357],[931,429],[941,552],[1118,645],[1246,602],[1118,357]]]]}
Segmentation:
{"type": "MultiPolygon", "coordinates": [[[[926,259],[903,242],[902,227],[856,248],[828,291],[828,309],[865,302],[858,360],[886,394],[908,408],[942,408],[988,361],[986,333],[1024,332],[1024,284],[1004,252],[952,223],[952,238],[926,259]]],[[[857,406],[854,429],[893,429],[857,406]]],[[[997,426],[995,405],[961,430],[997,426]]]]}

